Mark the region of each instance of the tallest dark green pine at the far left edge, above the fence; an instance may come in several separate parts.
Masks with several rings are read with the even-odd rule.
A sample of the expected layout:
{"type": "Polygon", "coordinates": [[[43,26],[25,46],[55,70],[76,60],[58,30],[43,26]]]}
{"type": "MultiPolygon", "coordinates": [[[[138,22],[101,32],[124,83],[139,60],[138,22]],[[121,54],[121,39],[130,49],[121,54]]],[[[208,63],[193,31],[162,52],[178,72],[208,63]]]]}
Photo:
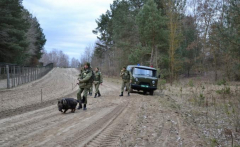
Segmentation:
{"type": "Polygon", "coordinates": [[[22,0],[0,1],[0,62],[24,64],[29,56],[26,32],[29,23],[22,17],[22,0]]]}

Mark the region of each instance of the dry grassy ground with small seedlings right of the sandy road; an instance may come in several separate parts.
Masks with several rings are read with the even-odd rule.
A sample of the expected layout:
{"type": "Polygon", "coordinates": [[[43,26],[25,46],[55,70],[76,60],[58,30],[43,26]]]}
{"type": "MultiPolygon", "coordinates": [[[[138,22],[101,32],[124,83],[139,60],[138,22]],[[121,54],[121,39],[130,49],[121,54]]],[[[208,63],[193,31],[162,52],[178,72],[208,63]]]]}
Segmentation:
{"type": "Polygon", "coordinates": [[[184,79],[159,86],[209,146],[240,146],[240,83],[184,79]],[[227,131],[226,131],[227,130],[227,131]]]}

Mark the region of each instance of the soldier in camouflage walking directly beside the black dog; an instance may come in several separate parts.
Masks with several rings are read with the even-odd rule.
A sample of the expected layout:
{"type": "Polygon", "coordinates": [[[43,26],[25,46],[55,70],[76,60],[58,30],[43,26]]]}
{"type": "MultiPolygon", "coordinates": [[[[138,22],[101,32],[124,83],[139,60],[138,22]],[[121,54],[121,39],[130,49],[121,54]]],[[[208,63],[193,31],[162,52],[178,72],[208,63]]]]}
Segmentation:
{"type": "Polygon", "coordinates": [[[92,70],[90,68],[90,63],[86,63],[84,65],[84,69],[80,74],[79,80],[79,92],[77,94],[77,99],[79,100],[79,107],[78,109],[82,108],[82,103],[84,104],[83,110],[87,110],[87,94],[89,91],[89,88],[92,85],[92,70]],[[81,97],[81,94],[83,92],[83,97],[81,97]]]}

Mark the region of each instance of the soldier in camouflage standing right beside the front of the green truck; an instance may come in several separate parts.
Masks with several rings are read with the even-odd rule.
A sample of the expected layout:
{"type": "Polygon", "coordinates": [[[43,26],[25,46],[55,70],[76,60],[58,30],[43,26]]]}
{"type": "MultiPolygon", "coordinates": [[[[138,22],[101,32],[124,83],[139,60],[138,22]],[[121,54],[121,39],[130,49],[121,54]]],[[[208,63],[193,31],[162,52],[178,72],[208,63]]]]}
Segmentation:
{"type": "Polygon", "coordinates": [[[130,83],[132,83],[132,75],[128,70],[126,70],[126,67],[123,67],[120,72],[120,76],[122,77],[122,88],[121,94],[119,96],[123,96],[123,90],[125,86],[128,89],[128,96],[130,96],[131,91],[130,83]]]}

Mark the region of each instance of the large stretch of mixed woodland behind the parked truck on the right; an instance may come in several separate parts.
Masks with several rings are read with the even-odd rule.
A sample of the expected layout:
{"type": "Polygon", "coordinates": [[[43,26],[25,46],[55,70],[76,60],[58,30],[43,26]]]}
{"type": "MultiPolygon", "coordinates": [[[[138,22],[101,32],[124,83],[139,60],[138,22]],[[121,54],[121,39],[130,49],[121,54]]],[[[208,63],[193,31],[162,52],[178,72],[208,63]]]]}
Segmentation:
{"type": "Polygon", "coordinates": [[[240,80],[239,0],[114,0],[96,19],[92,64],[108,75],[153,66],[179,75],[240,80]]]}

